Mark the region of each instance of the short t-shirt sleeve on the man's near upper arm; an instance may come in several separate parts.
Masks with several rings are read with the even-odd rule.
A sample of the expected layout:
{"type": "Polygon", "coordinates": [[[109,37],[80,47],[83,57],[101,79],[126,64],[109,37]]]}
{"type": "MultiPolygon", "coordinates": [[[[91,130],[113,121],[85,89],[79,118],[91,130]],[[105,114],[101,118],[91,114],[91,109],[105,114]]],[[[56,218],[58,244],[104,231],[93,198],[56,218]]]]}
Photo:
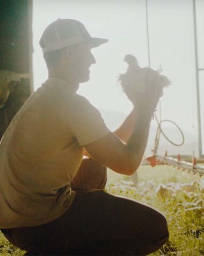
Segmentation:
{"type": "Polygon", "coordinates": [[[85,146],[111,133],[98,109],[83,96],[73,96],[68,108],[67,124],[79,146],[85,146]]]}

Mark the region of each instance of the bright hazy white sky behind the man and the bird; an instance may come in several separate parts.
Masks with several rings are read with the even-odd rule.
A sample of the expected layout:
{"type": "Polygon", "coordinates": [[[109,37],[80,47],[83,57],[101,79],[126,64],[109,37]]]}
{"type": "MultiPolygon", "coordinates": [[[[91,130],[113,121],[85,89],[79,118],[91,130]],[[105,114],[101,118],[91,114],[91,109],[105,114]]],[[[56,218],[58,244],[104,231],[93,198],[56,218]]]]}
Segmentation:
{"type": "MultiPolygon", "coordinates": [[[[198,2],[199,8],[203,8],[204,1],[198,2]]],[[[198,130],[192,0],[151,0],[148,3],[151,67],[157,69],[162,65],[163,74],[172,81],[162,98],[162,116],[178,123],[184,133],[191,134],[192,153],[196,151],[198,130]]],[[[144,0],[33,0],[34,88],[47,79],[39,47],[43,30],[57,18],[78,19],[92,36],[109,39],[107,44],[92,50],[97,64],[92,65],[90,81],[81,84],[78,93],[97,108],[128,114],[132,104],[117,85],[117,79],[119,73],[126,71],[123,58],[128,53],[134,54],[142,67],[148,65],[145,15],[144,0]]],[[[201,15],[198,23],[200,28],[203,25],[201,15]]],[[[199,42],[202,41],[199,33],[199,42]]],[[[204,62],[200,57],[203,52],[202,48],[200,65],[204,62]]],[[[204,98],[203,89],[202,96],[204,98]]],[[[202,123],[204,127],[204,119],[202,123]]]]}

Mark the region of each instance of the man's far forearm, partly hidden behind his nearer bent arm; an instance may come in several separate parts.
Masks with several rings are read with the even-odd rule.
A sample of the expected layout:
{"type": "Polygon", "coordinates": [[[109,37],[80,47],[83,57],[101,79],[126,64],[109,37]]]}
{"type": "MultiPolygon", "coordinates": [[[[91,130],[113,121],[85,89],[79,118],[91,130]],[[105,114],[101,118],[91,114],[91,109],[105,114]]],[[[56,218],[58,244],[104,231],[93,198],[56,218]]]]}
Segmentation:
{"type": "Polygon", "coordinates": [[[127,142],[130,135],[132,135],[136,122],[136,116],[136,109],[133,108],[132,112],[126,117],[125,121],[121,124],[121,126],[113,132],[123,142],[127,142]]]}

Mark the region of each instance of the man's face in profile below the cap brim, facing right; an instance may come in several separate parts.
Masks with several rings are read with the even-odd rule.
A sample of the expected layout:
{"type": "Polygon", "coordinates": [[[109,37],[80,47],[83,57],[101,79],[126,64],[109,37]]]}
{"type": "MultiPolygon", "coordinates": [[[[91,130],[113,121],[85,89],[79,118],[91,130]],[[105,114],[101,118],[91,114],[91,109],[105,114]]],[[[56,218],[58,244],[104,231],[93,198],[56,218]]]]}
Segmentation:
{"type": "Polygon", "coordinates": [[[90,66],[96,63],[88,43],[82,42],[66,49],[67,72],[71,75],[72,81],[79,84],[89,80],[90,66]]]}

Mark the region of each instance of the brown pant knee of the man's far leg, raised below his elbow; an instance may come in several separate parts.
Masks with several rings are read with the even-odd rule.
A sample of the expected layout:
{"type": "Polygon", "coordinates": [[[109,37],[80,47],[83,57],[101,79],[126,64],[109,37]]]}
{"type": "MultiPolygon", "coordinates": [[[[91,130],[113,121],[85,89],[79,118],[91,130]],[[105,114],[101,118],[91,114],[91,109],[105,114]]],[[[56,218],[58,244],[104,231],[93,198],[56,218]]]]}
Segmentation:
{"type": "Polygon", "coordinates": [[[72,190],[104,189],[107,181],[107,168],[90,159],[84,158],[71,182],[72,190]]]}

